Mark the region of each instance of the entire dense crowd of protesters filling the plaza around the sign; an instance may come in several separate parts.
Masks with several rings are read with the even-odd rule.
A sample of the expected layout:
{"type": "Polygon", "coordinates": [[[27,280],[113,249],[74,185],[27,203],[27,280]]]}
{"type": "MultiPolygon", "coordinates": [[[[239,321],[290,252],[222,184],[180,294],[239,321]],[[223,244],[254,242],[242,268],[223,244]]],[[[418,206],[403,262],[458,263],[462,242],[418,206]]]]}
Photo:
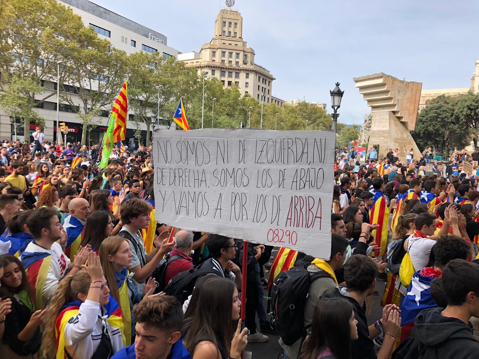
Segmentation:
{"type": "Polygon", "coordinates": [[[289,270],[307,278],[305,295],[281,298],[284,282],[265,279],[273,247],[244,253],[241,239],[161,223],[151,150],[115,147],[103,170],[99,152],[46,143],[40,128],[31,144],[3,141],[2,358],[239,359],[268,332],[286,359],[475,357],[479,177],[467,158],[426,175],[409,153],[403,165],[392,150],[364,163],[337,151],[331,256],[297,253],[289,270]],[[374,295],[383,310],[369,323],[374,295]],[[288,300],[302,308],[294,340],[280,328],[288,300]]]}

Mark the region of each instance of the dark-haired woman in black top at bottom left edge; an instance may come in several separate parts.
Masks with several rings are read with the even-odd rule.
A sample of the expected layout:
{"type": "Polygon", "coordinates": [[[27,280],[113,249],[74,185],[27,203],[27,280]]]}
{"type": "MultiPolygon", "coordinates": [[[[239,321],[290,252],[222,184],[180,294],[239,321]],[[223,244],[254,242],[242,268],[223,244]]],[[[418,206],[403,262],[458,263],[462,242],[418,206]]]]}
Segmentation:
{"type": "Polygon", "coordinates": [[[20,259],[3,255],[0,262],[3,262],[0,297],[11,300],[11,312],[5,317],[2,353],[8,358],[34,355],[40,348],[40,325],[46,318],[48,307],[35,311],[34,292],[20,259]]]}

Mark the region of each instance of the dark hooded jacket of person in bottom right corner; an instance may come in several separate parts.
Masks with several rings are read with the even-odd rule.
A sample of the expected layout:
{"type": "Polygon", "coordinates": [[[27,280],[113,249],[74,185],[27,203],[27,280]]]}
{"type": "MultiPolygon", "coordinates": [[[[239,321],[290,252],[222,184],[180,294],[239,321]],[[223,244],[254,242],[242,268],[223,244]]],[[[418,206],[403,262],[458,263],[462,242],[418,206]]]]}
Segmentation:
{"type": "Polygon", "coordinates": [[[411,335],[394,351],[392,359],[478,358],[479,341],[463,321],[441,315],[443,308],[418,314],[411,335]]]}

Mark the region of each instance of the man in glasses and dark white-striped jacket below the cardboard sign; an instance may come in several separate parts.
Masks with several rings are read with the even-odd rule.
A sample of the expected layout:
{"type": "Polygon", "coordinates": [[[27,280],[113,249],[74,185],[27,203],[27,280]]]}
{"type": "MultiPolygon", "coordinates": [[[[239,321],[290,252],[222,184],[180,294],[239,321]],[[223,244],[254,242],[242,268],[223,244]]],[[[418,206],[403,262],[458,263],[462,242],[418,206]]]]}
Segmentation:
{"type": "Polygon", "coordinates": [[[241,290],[241,269],[233,263],[238,251],[238,246],[235,244],[234,239],[210,234],[206,243],[212,258],[207,259],[201,264],[200,268],[216,270],[218,277],[234,280],[238,290],[241,290]]]}

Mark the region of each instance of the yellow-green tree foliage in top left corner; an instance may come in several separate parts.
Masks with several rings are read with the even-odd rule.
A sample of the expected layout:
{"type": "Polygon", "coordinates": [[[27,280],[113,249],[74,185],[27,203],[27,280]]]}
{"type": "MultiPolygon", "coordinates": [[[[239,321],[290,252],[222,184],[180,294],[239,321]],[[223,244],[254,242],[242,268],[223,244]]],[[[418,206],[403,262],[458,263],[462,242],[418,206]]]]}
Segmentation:
{"type": "MultiPolygon", "coordinates": [[[[57,79],[57,62],[67,63],[96,34],[56,0],[4,0],[0,18],[0,92],[11,92],[0,105],[23,118],[26,135],[30,120],[42,121],[34,106],[56,96],[42,81],[57,79]]],[[[60,66],[60,83],[68,81],[72,70],[60,66]]]]}

